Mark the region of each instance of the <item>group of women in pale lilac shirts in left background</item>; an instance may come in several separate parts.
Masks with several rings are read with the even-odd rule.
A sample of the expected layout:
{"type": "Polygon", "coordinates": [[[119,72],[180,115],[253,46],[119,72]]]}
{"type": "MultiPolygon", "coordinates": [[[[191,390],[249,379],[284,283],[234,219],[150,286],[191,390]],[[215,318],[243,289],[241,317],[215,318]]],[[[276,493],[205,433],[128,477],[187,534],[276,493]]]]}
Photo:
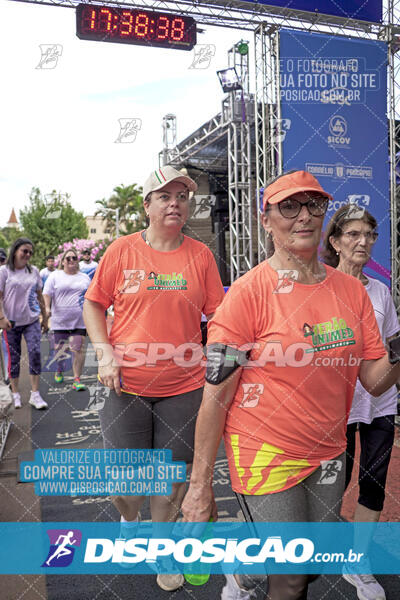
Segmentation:
{"type": "MultiPolygon", "coordinates": [[[[84,251],[85,264],[90,263],[94,273],[91,251],[84,251]],[[85,252],[89,254],[89,261],[85,252]]],[[[85,390],[81,382],[85,361],[86,328],[82,318],[83,301],[90,285],[90,277],[79,267],[76,250],[64,252],[58,265],[55,257],[46,256],[46,267],[40,272],[34,261],[34,244],[28,238],[18,238],[8,256],[0,248],[0,328],[3,330],[3,352],[13,395],[14,407],[21,408],[19,375],[21,342],[27,347],[31,394],[29,404],[41,410],[48,408],[39,391],[42,371],[41,336],[48,333],[49,351],[57,364],[54,381],[64,381],[63,371],[67,358],[72,357],[73,384],[76,391],[85,390]],[[51,330],[50,330],[51,327],[51,330]]],[[[94,263],[97,266],[97,263],[94,263]]],[[[49,358],[51,358],[49,356],[49,358]]]]}

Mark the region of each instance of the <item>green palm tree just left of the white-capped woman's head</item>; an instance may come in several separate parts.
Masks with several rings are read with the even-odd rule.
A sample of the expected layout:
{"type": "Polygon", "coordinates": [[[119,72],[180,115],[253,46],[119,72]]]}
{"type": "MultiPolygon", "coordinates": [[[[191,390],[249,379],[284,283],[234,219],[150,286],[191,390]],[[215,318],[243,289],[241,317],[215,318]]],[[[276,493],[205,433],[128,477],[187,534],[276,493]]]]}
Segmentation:
{"type": "Polygon", "coordinates": [[[115,235],[116,213],[119,209],[119,234],[128,235],[146,227],[146,215],[143,208],[142,188],[136,183],[132,185],[118,185],[113,194],[106,200],[96,200],[99,208],[95,216],[101,215],[105,219],[107,229],[115,235]]]}

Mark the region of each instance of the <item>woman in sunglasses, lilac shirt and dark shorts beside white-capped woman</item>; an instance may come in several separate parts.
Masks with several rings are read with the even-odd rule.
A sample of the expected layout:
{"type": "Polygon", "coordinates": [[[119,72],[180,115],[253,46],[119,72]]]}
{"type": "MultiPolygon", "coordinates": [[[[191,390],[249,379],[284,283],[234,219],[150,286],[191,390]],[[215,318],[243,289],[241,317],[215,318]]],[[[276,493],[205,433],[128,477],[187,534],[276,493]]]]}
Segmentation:
{"type": "Polygon", "coordinates": [[[73,248],[64,252],[58,270],[51,273],[46,281],[43,297],[46,314],[48,317],[51,316],[56,351],[61,354],[54,379],[56,383],[62,383],[64,380],[63,351],[69,347],[73,354],[72,388],[79,392],[85,389],[80,380],[85,362],[86,336],[82,309],[90,279],[85,273],[79,271],[78,260],[78,253],[73,248]]]}

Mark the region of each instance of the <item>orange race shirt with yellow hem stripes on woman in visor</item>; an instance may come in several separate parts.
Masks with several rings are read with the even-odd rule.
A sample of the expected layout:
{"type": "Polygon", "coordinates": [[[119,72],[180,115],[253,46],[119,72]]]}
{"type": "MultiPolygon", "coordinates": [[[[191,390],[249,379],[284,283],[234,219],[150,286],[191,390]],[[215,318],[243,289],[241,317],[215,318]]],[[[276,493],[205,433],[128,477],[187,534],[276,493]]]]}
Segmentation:
{"type": "Polygon", "coordinates": [[[325,268],[323,282],[304,285],[265,261],[232,285],[209,324],[208,344],[251,349],[225,425],[236,492],[282,491],[320,465],[325,483],[345,468],[324,461],[346,449],[361,359],[386,350],[362,283],[325,268]]]}

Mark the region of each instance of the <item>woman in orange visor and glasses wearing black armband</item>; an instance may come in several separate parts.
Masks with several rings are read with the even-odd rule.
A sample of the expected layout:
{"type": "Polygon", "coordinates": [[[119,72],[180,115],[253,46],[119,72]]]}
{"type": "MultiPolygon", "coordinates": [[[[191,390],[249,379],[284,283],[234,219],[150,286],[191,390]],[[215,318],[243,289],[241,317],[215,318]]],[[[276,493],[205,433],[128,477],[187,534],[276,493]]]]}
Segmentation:
{"type": "MultiPolygon", "coordinates": [[[[222,434],[247,521],[339,519],[357,377],[376,396],[399,377],[400,363],[389,362],[362,283],[318,260],[331,198],[305,171],[265,188],[262,219],[275,251],[232,285],[209,325],[186,521],[217,516],[212,478],[222,434]],[[350,353],[360,360],[349,364],[350,353]]],[[[268,599],[303,600],[313,578],[268,575],[268,599]]],[[[259,585],[266,592],[265,578],[259,585]]],[[[222,598],[253,592],[248,579],[228,575],[222,598]]]]}

